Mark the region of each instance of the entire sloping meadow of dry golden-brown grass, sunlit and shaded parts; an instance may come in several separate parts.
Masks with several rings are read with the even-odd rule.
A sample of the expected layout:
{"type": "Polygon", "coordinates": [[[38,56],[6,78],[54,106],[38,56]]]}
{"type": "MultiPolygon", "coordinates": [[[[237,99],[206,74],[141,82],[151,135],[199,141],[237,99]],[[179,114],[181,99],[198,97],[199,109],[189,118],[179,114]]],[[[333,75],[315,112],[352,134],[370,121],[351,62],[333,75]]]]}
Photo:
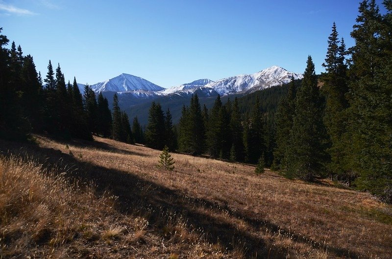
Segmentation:
{"type": "Polygon", "coordinates": [[[95,137],[0,141],[2,258],[392,258],[367,193],[95,137]]]}

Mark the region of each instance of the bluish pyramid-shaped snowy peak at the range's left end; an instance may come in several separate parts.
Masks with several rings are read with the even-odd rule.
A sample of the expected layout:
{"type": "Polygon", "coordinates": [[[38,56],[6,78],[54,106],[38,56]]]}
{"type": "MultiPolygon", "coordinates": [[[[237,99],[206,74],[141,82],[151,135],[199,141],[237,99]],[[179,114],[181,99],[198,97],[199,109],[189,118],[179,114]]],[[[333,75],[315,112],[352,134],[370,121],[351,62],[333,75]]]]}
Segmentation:
{"type": "Polygon", "coordinates": [[[95,92],[129,92],[135,90],[155,92],[165,89],[147,81],[144,78],[124,73],[112,79],[106,80],[105,82],[92,85],[91,88],[93,88],[95,92]]]}

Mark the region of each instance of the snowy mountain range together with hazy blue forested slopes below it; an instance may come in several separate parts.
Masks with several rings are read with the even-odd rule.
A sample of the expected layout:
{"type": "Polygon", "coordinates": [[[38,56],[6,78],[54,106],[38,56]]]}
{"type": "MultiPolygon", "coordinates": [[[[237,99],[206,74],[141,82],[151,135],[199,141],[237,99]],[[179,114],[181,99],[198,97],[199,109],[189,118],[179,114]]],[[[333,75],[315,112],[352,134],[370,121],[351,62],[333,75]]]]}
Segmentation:
{"type": "MultiPolygon", "coordinates": [[[[218,94],[226,98],[244,96],[271,86],[281,86],[289,83],[292,79],[302,79],[302,77],[302,74],[290,72],[274,65],[254,74],[241,74],[218,81],[199,79],[167,89],[141,77],[125,73],[91,87],[96,93],[102,92],[108,99],[110,106],[114,94],[117,93],[119,105],[128,114],[128,117],[132,119],[138,116],[140,123],[146,125],[148,108],[152,101],[159,102],[163,109],[170,108],[173,123],[177,123],[181,116],[181,107],[189,105],[193,94],[197,94],[200,103],[209,108],[213,105],[218,94]]],[[[81,86],[79,88],[82,88],[81,86]]]]}

